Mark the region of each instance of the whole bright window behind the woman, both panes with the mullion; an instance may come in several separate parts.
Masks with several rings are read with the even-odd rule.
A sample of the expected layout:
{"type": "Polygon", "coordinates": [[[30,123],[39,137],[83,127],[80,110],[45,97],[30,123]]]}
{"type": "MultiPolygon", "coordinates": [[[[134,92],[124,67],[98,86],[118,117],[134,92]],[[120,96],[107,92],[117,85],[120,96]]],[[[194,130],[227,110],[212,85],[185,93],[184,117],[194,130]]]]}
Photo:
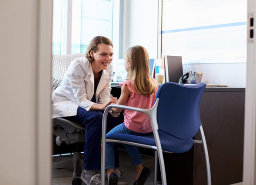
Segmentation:
{"type": "Polygon", "coordinates": [[[54,0],[52,53],[85,53],[89,41],[112,40],[113,0],[54,0]]]}

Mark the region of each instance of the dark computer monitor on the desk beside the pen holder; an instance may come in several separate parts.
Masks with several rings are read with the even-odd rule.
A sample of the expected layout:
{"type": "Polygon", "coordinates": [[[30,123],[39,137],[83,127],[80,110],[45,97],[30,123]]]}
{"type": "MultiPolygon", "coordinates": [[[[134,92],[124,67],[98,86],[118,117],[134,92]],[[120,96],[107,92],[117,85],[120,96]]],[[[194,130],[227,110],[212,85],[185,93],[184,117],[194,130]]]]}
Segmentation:
{"type": "Polygon", "coordinates": [[[183,76],[182,58],[179,56],[164,56],[164,65],[166,82],[179,83],[179,78],[183,76]]]}

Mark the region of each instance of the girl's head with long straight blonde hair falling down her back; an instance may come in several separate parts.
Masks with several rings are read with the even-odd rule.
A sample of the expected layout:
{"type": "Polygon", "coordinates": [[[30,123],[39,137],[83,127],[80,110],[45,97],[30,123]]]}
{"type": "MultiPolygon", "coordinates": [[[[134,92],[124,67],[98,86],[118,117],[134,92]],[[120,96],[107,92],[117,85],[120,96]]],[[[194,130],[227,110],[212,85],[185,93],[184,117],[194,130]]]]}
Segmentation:
{"type": "Polygon", "coordinates": [[[128,79],[132,79],[132,87],[135,86],[141,95],[151,96],[157,87],[156,80],[150,76],[150,63],[148,51],[145,47],[135,45],[125,52],[125,58],[130,61],[128,79]]]}

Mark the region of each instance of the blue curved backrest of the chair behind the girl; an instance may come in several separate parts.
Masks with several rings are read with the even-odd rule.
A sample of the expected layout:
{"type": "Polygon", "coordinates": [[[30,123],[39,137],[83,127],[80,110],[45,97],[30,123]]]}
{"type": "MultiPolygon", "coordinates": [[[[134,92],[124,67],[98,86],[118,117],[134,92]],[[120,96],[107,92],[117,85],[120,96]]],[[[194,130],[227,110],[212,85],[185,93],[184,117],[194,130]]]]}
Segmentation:
{"type": "Polygon", "coordinates": [[[159,130],[179,139],[194,137],[201,126],[200,103],[205,87],[204,83],[162,84],[156,94],[159,130]]]}

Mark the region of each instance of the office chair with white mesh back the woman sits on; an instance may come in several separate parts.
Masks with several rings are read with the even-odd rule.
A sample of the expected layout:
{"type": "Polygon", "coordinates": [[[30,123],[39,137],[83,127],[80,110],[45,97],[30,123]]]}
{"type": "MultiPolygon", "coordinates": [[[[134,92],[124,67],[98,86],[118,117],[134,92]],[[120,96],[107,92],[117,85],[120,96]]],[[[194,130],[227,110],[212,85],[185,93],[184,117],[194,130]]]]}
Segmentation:
{"type": "MultiPolygon", "coordinates": [[[[70,63],[75,59],[84,54],[77,53],[71,55],[52,55],[52,92],[60,86],[62,79],[70,65],[70,63]]],[[[85,127],[81,123],[75,121],[69,121],[61,117],[53,119],[53,125],[55,128],[53,134],[56,136],[56,144],[61,145],[62,142],[66,144],[76,144],[76,149],[73,152],[73,158],[56,158],[53,162],[53,169],[61,169],[73,167],[73,181],[72,185],[81,185],[81,179],[77,178],[81,174],[81,167],[84,166],[83,158],[81,158],[81,153],[77,150],[77,144],[84,141],[85,127]],[[59,160],[59,161],[58,161],[59,160]]]]}

